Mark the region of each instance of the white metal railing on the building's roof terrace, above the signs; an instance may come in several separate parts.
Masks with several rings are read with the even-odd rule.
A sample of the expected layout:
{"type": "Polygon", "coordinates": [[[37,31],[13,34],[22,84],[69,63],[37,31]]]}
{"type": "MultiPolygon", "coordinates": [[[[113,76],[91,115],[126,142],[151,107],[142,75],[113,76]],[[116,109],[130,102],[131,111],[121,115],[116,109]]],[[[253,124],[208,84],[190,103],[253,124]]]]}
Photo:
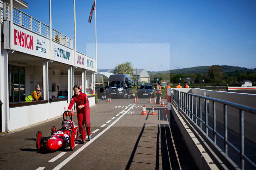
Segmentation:
{"type": "MultiPolygon", "coordinates": [[[[10,19],[9,6],[9,4],[4,3],[4,19],[10,19]]],[[[50,38],[50,27],[48,25],[40,22],[39,20],[29,16],[28,14],[20,11],[15,7],[13,7],[13,23],[29,29],[30,31],[33,31],[46,38],[50,38]]],[[[56,31],[55,29],[52,29],[51,39],[69,48],[73,48],[73,40],[66,35],[56,31]]]]}

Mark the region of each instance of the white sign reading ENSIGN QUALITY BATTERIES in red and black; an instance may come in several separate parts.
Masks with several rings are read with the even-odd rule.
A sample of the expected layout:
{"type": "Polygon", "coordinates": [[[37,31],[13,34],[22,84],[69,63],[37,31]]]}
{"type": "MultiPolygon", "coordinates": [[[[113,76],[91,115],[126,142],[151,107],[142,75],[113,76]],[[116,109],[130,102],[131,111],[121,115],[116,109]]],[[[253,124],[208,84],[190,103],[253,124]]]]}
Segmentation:
{"type": "Polygon", "coordinates": [[[13,24],[13,48],[16,51],[50,59],[49,40],[13,24]]]}

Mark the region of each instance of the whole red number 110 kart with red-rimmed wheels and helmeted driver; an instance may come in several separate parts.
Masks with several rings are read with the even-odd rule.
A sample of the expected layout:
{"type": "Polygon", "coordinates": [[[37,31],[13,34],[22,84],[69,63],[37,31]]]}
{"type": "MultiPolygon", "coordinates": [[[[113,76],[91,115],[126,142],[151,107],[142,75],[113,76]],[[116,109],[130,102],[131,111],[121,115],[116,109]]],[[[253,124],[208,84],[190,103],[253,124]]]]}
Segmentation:
{"type": "Polygon", "coordinates": [[[71,112],[69,112],[69,114],[65,114],[65,113],[68,113],[68,111],[65,111],[63,113],[61,129],[56,130],[56,127],[53,126],[51,128],[50,137],[43,137],[40,130],[36,133],[36,149],[37,150],[40,150],[43,146],[45,146],[46,150],[55,151],[61,147],[65,147],[69,145],[70,150],[73,151],[75,148],[75,141],[77,140],[78,135],[81,135],[82,143],[85,143],[85,127],[82,126],[82,133],[78,134],[78,127],[72,121],[71,112]],[[64,119],[64,115],[66,115],[65,119],[64,119]],[[69,115],[70,119],[67,119],[67,115],[69,115]]]}

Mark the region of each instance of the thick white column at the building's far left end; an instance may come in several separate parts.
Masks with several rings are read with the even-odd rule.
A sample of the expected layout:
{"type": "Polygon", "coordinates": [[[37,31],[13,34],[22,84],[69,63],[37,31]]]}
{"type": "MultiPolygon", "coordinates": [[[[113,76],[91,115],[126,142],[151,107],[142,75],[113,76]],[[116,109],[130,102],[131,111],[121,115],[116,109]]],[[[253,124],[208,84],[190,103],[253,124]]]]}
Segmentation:
{"type": "Polygon", "coordinates": [[[8,132],[9,112],[9,87],[8,87],[8,53],[1,44],[0,55],[0,100],[2,101],[2,114],[0,119],[0,132],[8,132]]]}

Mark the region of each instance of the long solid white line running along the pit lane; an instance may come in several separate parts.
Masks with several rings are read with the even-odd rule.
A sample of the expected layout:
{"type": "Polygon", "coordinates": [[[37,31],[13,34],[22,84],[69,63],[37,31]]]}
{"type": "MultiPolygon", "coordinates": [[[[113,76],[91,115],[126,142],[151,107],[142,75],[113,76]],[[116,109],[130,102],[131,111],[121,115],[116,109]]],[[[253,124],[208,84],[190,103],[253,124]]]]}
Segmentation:
{"type": "MultiPolygon", "coordinates": [[[[133,106],[136,104],[133,104],[133,106]]],[[[129,111],[131,108],[129,108],[127,111],[129,111]]],[[[72,155],[70,155],[68,158],[66,158],[64,161],[62,161],[60,164],[58,164],[53,170],[59,170],[62,168],[65,164],[67,164],[70,160],[72,160],[78,153],[80,153],[84,148],[86,148],[88,145],[90,145],[94,140],[96,140],[100,135],[102,135],[104,132],[106,132],[110,127],[112,127],[119,119],[121,119],[125,114],[122,114],[120,117],[118,117],[113,123],[111,123],[107,128],[102,130],[98,135],[96,135],[92,140],[88,141],[85,145],[83,145],[81,148],[79,148],[77,151],[75,151],[72,155]]]]}

